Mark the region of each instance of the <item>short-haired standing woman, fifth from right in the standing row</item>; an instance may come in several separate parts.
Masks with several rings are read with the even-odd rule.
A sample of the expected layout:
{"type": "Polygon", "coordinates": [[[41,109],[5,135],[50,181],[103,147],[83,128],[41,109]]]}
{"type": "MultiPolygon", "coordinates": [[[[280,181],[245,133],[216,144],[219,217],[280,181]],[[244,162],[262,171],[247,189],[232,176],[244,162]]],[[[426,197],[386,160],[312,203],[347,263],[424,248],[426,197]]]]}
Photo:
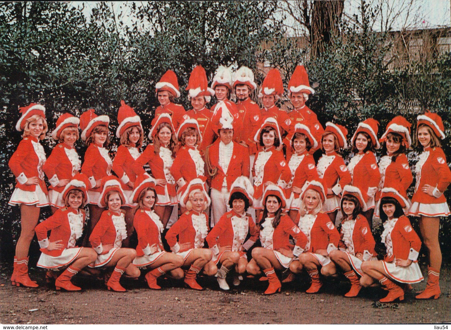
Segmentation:
{"type": "Polygon", "coordinates": [[[318,180],[310,149],[318,148],[318,142],[313,137],[310,128],[304,124],[296,124],[293,137],[290,139],[292,151],[288,158],[288,167],[291,170],[291,180],[286,185],[285,196],[287,209],[290,209],[290,218],[295,221],[299,212],[299,195],[306,181],[318,180]]]}

